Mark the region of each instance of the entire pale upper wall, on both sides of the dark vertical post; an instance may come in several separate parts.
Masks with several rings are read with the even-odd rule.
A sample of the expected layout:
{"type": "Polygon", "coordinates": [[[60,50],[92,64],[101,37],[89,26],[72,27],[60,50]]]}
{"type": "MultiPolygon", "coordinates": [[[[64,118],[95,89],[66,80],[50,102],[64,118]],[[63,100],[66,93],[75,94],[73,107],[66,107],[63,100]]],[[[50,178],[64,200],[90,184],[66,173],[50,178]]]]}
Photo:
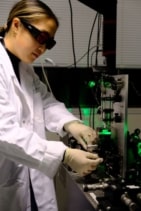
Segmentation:
{"type": "MultiPolygon", "coordinates": [[[[44,62],[46,57],[54,60],[58,66],[68,66],[74,63],[72,51],[70,5],[68,0],[43,0],[55,12],[60,21],[56,34],[57,46],[47,51],[41,61],[35,65],[49,65],[44,62]]],[[[16,0],[0,1],[0,24],[6,23],[10,8],[16,0]]],[[[88,49],[88,40],[96,11],[77,0],[71,0],[74,22],[74,42],[76,60],[79,60],[88,49]]],[[[141,1],[117,0],[117,68],[141,68],[141,1]]],[[[97,26],[92,36],[92,46],[96,45],[97,26]]],[[[102,36],[102,34],[101,34],[102,36]]],[[[102,45],[102,39],[101,39],[102,45]]],[[[95,50],[95,49],[93,49],[95,50]]],[[[99,53],[99,64],[104,65],[102,53],[99,53]]],[[[78,66],[87,66],[85,56],[78,66]]]]}

